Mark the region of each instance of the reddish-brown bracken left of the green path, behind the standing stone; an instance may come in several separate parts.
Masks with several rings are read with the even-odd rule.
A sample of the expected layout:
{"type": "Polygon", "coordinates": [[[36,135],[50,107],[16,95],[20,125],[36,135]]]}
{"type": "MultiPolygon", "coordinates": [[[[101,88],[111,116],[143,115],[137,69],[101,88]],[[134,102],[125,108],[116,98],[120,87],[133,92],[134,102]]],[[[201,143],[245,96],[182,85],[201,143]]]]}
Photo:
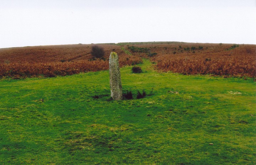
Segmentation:
{"type": "Polygon", "coordinates": [[[90,45],[32,46],[0,49],[0,77],[55,77],[80,72],[108,70],[111,51],[119,55],[119,65],[132,65],[141,58],[125,54],[120,46],[102,44],[105,57],[94,59],[90,45]]]}

